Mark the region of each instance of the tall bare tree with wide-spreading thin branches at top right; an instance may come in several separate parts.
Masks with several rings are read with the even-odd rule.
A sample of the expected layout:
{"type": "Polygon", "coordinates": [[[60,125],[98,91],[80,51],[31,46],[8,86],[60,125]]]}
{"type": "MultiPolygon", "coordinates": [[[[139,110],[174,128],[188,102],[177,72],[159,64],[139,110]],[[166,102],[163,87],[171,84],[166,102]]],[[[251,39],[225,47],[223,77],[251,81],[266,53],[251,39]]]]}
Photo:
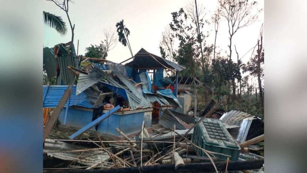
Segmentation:
{"type": "MultiPolygon", "coordinates": [[[[219,0],[220,15],[227,20],[229,33],[229,60],[232,55],[232,38],[234,34],[243,27],[250,25],[257,19],[257,13],[254,13],[254,7],[257,2],[248,2],[247,0],[219,0]]],[[[235,81],[232,83],[232,99],[235,99],[235,81]]]]}

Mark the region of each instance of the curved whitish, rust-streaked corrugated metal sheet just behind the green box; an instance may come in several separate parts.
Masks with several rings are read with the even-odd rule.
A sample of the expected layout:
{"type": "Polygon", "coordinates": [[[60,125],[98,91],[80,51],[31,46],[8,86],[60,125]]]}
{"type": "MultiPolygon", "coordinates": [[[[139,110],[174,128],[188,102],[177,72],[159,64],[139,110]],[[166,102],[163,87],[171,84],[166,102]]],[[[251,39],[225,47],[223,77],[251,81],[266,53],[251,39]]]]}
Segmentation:
{"type": "Polygon", "coordinates": [[[235,132],[231,133],[231,135],[240,143],[246,140],[247,133],[251,127],[253,119],[255,118],[251,114],[234,110],[225,113],[220,118],[222,123],[240,126],[240,128],[233,130],[235,132]]]}

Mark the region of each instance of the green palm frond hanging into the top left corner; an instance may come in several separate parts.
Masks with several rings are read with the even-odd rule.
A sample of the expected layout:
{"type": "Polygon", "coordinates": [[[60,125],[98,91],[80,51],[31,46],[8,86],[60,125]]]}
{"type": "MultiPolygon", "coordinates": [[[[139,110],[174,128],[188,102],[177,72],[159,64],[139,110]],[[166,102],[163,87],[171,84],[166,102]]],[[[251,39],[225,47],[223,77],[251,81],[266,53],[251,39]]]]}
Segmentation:
{"type": "Polygon", "coordinates": [[[54,28],[58,33],[64,36],[67,33],[66,24],[60,16],[43,11],[44,23],[54,28]]]}

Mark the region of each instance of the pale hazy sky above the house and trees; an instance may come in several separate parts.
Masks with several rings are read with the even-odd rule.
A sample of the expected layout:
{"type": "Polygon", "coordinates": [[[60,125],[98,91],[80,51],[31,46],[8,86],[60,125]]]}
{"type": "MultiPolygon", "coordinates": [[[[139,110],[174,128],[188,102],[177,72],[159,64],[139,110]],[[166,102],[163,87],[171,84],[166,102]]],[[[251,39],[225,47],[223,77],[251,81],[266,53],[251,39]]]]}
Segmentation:
{"type": "MultiPolygon", "coordinates": [[[[78,1],[74,4],[69,2],[69,16],[72,24],[75,24],[74,44],[77,50],[77,42],[79,39],[79,55],[85,54],[85,48],[91,44],[99,45],[104,40],[103,30],[116,30],[116,22],[124,19],[124,24],[130,30],[129,41],[133,54],[144,48],[150,53],[161,55],[159,43],[161,34],[172,21],[171,13],[184,8],[192,0],[89,0],[78,1]]],[[[264,8],[264,0],[257,1],[257,8],[264,8]]],[[[197,6],[204,7],[206,13],[205,18],[210,18],[214,11],[218,8],[217,0],[198,0],[197,6]]],[[[53,47],[58,43],[66,43],[71,40],[71,30],[67,16],[63,10],[56,6],[53,2],[44,1],[43,10],[52,14],[61,16],[66,22],[68,32],[65,36],[61,36],[56,30],[49,28],[43,24],[43,45],[53,47]]],[[[251,51],[248,52],[257,43],[262,23],[264,23],[264,12],[258,14],[258,20],[245,28],[239,29],[233,37],[233,45],[236,45],[239,57],[243,57],[243,63],[247,63],[251,57],[251,51]],[[247,53],[248,52],[248,53],[247,53]],[[247,54],[246,54],[247,53],[247,54]],[[243,56],[246,54],[245,56],[243,56]]],[[[206,39],[208,44],[214,43],[214,25],[205,25],[203,32],[209,31],[210,36],[206,39]]],[[[221,20],[220,28],[217,35],[216,46],[217,51],[221,51],[222,55],[229,52],[227,21],[221,20]]],[[[233,47],[234,49],[234,47],[233,47]]],[[[233,56],[236,57],[235,51],[233,56]]],[[[128,47],[117,43],[114,49],[108,53],[107,60],[113,62],[122,62],[130,58],[131,54],[128,47]]],[[[237,62],[236,58],[233,58],[237,62]]]]}

